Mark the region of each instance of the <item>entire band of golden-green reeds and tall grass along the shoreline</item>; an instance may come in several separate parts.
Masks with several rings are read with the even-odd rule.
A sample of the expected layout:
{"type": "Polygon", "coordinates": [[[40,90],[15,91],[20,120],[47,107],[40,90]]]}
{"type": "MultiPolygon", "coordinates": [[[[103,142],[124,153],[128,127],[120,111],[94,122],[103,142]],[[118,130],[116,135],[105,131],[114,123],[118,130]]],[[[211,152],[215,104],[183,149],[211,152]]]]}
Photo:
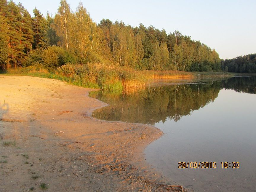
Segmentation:
{"type": "Polygon", "coordinates": [[[129,67],[102,63],[83,65],[68,63],[54,70],[37,63],[24,68],[8,69],[7,75],[11,74],[59,79],[81,87],[109,91],[146,87],[152,80],[156,79],[195,79],[198,76],[201,78],[230,75],[230,73],[225,72],[135,71],[129,67]]]}

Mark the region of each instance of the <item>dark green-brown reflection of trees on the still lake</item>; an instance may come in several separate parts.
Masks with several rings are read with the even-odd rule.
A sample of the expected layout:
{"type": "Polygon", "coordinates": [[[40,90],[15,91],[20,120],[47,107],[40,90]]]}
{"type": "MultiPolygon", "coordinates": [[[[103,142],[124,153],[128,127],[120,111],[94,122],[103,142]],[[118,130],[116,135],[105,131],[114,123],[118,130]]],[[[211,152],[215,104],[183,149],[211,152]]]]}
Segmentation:
{"type": "Polygon", "coordinates": [[[223,87],[251,93],[255,90],[255,83],[255,78],[231,78],[205,84],[149,87],[126,92],[98,91],[91,92],[90,96],[110,104],[94,111],[96,118],[154,124],[167,118],[178,121],[182,116],[190,115],[191,111],[214,101],[223,87]],[[251,89],[247,88],[248,83],[251,89]]]}

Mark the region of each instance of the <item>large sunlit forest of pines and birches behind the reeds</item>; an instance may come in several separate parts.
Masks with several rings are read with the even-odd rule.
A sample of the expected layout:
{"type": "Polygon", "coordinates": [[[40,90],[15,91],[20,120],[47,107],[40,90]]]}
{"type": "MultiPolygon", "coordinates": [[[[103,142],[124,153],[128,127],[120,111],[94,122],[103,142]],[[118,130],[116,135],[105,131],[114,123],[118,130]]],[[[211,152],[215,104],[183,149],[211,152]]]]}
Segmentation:
{"type": "Polygon", "coordinates": [[[220,71],[217,52],[179,31],[167,35],[152,25],[131,27],[103,19],[93,22],[79,3],[65,0],[54,17],[21,3],[0,0],[0,63],[12,66],[105,63],[135,70],[220,71]]]}

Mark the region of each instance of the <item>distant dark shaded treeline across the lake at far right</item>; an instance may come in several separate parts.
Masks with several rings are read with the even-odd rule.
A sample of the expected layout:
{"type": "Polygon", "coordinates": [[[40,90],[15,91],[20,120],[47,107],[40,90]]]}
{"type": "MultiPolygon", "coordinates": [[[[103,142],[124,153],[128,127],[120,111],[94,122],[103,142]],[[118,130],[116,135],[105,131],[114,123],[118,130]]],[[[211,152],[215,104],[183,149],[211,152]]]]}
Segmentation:
{"type": "Polygon", "coordinates": [[[221,62],[222,71],[234,73],[256,73],[256,54],[239,56],[221,62]]]}

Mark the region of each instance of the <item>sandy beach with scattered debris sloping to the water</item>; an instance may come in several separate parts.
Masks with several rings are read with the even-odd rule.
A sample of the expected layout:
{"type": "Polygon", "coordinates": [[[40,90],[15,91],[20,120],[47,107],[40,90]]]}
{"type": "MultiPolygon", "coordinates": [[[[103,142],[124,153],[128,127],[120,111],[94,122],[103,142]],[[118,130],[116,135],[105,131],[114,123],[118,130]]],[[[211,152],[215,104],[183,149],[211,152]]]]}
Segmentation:
{"type": "Polygon", "coordinates": [[[0,76],[0,191],[180,191],[144,158],[163,133],[92,118],[107,105],[88,97],[93,90],[0,76]]]}

